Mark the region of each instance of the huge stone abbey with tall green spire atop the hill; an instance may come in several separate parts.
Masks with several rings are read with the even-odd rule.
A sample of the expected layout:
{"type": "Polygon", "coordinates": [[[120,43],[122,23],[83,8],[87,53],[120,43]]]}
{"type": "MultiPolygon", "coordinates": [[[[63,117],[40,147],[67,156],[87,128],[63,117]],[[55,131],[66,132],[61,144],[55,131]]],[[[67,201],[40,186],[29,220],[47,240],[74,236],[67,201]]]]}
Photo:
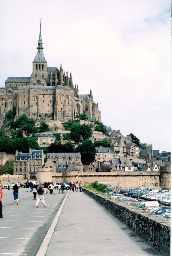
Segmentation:
{"type": "Polygon", "coordinates": [[[60,69],[47,67],[41,23],[37,50],[31,76],[8,77],[5,89],[0,88],[1,121],[9,110],[16,108],[15,119],[26,114],[35,120],[68,121],[85,113],[89,121],[101,122],[101,111],[93,101],[91,89],[88,94],[79,95],[78,85],[74,86],[71,73],[63,73],[62,65],[60,69]]]}

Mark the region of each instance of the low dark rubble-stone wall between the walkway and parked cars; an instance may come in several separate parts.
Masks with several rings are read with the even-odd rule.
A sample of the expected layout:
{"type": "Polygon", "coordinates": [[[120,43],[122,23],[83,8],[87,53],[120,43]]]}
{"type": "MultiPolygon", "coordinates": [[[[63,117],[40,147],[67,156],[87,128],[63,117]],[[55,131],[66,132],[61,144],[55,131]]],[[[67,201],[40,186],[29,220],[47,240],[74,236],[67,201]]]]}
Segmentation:
{"type": "Polygon", "coordinates": [[[88,189],[83,188],[83,191],[124,222],[130,229],[139,234],[139,236],[147,240],[149,244],[163,255],[170,255],[170,220],[143,212],[123,202],[114,202],[113,199],[88,189]]]}

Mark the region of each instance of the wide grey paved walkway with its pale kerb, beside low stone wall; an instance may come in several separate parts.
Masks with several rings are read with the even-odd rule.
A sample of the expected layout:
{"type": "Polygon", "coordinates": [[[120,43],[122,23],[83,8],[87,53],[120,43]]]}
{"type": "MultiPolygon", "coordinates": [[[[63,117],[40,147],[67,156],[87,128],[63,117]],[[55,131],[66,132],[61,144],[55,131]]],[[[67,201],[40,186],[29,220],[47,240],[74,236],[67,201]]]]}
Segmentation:
{"type": "Polygon", "coordinates": [[[94,199],[68,191],[37,256],[160,256],[94,199]]]}

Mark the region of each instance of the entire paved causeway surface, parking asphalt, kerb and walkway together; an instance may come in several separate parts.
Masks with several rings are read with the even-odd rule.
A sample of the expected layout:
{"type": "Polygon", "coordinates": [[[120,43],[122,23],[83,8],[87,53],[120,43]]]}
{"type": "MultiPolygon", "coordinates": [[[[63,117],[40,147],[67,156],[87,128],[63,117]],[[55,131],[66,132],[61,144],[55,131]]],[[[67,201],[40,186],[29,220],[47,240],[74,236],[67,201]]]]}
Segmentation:
{"type": "Polygon", "coordinates": [[[48,192],[46,208],[25,188],[18,206],[12,189],[3,192],[0,256],[162,256],[84,192],[48,192]]]}

